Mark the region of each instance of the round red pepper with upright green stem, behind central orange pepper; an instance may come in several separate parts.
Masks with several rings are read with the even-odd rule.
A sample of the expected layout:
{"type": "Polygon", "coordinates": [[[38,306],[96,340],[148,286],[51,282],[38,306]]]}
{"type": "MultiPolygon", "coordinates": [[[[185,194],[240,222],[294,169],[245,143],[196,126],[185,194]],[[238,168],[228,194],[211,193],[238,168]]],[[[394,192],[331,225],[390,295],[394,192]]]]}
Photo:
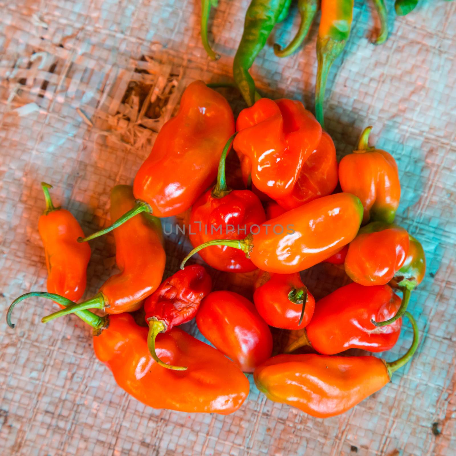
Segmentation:
{"type": "MultiPolygon", "coordinates": [[[[189,238],[193,247],[212,239],[242,239],[252,225],[260,225],[266,220],[261,201],[253,192],[231,190],[227,186],[225,160],[232,140],[233,137],[228,140],[220,158],[216,186],[203,193],[192,207],[189,238]]],[[[249,272],[256,269],[243,252],[224,245],[208,247],[200,255],[209,266],[219,271],[249,272]]]]}

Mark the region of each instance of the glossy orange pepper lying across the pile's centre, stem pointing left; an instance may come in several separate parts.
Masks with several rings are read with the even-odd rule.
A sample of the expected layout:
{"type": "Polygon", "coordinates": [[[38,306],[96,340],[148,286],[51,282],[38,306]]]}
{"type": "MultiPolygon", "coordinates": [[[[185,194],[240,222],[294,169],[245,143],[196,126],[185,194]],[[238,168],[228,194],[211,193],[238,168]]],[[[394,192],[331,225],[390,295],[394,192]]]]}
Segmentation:
{"type": "Polygon", "coordinates": [[[362,218],[363,206],[354,195],[336,193],[321,197],[273,218],[244,239],[214,240],[198,246],[182,261],[181,268],[205,247],[228,245],[243,250],[264,271],[300,272],[352,241],[362,218]]]}

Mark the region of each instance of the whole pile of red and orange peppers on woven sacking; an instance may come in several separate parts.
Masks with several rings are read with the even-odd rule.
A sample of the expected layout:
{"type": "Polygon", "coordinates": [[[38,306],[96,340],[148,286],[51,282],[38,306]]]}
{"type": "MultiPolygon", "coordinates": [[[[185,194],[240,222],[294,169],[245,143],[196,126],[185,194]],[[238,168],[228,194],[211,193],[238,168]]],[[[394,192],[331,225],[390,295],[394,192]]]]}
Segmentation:
{"type": "MultiPolygon", "coordinates": [[[[271,23],[289,2],[274,5],[271,23]]],[[[253,10],[249,20],[260,12],[253,10]]],[[[259,98],[235,122],[222,95],[202,81],[191,83],[133,187],[112,189],[112,225],[84,237],[73,215],[53,206],[51,186],[41,184],[46,208],[38,230],[47,291],[16,298],[8,325],[14,328],[12,311],[25,299],[56,302],[61,309],[41,321],[74,313],[92,326],[95,356],[119,387],[157,409],[233,413],[249,394],[244,373],[253,373],[273,401],[316,417],[345,412],[383,388],[419,343],[407,307],[424,279],[424,250],[394,223],[398,167],[389,152],[369,146],[370,132],[366,128],[356,150],[337,163],[330,135],[302,103],[259,98]],[[227,184],[232,147],[244,188],[227,184]],[[182,212],[194,249],[163,280],[160,218],[182,212]],[[88,240],[110,231],[119,273],[98,294],[76,302],[86,285],[88,240]],[[210,269],[185,265],[197,252],[210,269]],[[328,275],[343,268],[352,283],[316,301],[301,272],[320,263],[328,275]],[[257,271],[248,276],[252,295],[213,289],[214,270],[257,271]],[[141,309],[138,324],[131,312],[141,309]],[[414,336],[397,361],[344,353],[392,349],[403,316],[414,336]],[[178,327],[193,319],[212,346],[178,327]],[[271,326],[287,332],[286,346],[275,347],[271,326]],[[305,354],[294,354],[304,346],[305,354]]]]}

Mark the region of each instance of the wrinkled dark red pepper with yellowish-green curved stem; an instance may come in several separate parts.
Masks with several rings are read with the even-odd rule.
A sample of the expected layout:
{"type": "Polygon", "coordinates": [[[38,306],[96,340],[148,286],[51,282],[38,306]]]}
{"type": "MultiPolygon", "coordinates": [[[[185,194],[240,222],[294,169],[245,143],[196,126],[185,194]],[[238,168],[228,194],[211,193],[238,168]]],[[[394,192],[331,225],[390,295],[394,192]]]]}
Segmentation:
{"type": "Polygon", "coordinates": [[[144,302],[145,321],[149,326],[147,343],[152,358],[161,366],[185,370],[186,367],[163,363],[155,354],[155,338],[174,326],[187,323],[197,314],[202,298],[210,293],[212,280],[198,264],[187,266],[168,277],[144,302]]]}

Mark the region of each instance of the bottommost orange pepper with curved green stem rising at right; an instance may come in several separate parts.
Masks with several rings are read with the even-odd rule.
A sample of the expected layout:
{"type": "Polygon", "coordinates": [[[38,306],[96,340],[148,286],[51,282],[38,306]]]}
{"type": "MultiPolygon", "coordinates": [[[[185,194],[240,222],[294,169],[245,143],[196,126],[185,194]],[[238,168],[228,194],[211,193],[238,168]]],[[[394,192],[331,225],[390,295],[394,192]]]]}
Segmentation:
{"type": "Polygon", "coordinates": [[[409,350],[394,362],[374,356],[277,355],[255,369],[258,389],[274,402],[297,407],[308,415],[340,415],[391,381],[392,374],[415,354],[419,344],[415,319],[409,350]]]}

